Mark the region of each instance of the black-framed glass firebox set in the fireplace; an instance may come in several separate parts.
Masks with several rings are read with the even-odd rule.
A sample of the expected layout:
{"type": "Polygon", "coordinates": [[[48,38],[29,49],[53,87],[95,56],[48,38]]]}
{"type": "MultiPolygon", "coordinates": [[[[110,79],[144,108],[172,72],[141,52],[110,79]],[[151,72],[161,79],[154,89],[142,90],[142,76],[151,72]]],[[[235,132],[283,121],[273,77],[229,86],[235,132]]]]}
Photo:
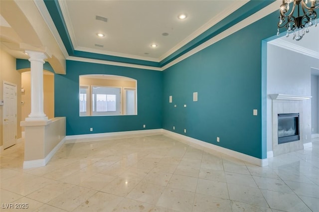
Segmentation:
{"type": "Polygon", "coordinates": [[[299,113],[278,114],[278,144],[300,140],[299,113]]]}

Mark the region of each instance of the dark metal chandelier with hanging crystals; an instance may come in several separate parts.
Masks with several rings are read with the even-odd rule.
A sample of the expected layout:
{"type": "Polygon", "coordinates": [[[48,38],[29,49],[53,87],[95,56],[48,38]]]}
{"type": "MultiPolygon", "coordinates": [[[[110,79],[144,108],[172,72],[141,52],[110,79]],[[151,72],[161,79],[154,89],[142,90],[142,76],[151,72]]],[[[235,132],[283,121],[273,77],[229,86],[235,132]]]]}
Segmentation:
{"type": "Polygon", "coordinates": [[[317,26],[315,11],[317,8],[319,8],[319,0],[283,0],[280,6],[277,35],[280,34],[279,28],[286,27],[286,37],[293,33],[293,39],[301,40],[309,32],[309,27],[314,24],[313,20],[317,26]]]}

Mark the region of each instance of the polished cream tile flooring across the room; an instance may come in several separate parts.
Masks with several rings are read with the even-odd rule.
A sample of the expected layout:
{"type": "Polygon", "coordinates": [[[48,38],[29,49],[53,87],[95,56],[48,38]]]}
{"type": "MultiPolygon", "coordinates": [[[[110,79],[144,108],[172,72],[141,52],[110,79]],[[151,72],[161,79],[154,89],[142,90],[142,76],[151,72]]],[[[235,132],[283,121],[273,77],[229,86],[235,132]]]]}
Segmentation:
{"type": "Polygon", "coordinates": [[[319,139],[267,167],[164,135],[64,144],[32,169],[23,151],[1,152],[1,211],[319,212],[319,139]]]}

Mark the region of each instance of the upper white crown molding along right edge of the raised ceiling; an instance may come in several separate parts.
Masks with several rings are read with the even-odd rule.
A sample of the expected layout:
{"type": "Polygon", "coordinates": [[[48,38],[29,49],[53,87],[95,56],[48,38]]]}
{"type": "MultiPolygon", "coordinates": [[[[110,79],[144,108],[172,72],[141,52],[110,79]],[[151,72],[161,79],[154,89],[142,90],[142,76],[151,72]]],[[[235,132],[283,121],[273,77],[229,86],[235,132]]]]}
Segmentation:
{"type": "Polygon", "coordinates": [[[204,25],[202,25],[200,28],[198,28],[196,31],[191,33],[189,36],[187,36],[184,40],[179,42],[177,45],[175,45],[173,48],[168,50],[166,53],[164,53],[162,56],[160,56],[159,61],[164,60],[166,57],[171,55],[172,53],[176,52],[178,49],[201,35],[203,32],[205,32],[210,27],[214,26],[216,23],[236,11],[238,8],[246,4],[248,0],[239,0],[236,1],[236,3],[232,3],[229,7],[225,8],[223,11],[221,11],[219,14],[217,14],[215,17],[207,21],[204,25]]]}

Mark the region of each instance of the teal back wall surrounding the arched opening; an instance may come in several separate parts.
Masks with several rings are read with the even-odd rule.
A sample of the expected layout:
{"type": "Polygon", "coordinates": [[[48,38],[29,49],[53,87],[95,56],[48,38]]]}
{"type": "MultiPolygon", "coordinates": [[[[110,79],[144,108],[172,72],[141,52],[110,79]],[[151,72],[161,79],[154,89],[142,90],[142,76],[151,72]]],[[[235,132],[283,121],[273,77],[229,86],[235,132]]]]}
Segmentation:
{"type": "Polygon", "coordinates": [[[54,77],[55,116],[66,116],[66,134],[162,128],[162,73],[136,68],[66,61],[66,75],[54,77]],[[79,116],[79,75],[110,74],[137,80],[138,115],[79,116]],[[146,124],[146,128],[143,128],[146,124]],[[93,132],[90,132],[93,127],[93,132]]]}

